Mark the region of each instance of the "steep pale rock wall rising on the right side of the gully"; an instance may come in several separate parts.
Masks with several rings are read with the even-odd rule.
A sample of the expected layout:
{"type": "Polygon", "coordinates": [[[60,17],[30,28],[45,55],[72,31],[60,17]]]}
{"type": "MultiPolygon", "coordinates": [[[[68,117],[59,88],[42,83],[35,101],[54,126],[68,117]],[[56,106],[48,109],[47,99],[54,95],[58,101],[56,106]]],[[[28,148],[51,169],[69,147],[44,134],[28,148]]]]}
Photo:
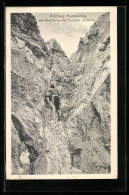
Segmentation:
{"type": "Polygon", "coordinates": [[[106,13],[81,38],[72,55],[71,66],[78,65],[73,109],[67,120],[82,136],[80,169],[84,173],[110,172],[110,22],[106,13]]]}

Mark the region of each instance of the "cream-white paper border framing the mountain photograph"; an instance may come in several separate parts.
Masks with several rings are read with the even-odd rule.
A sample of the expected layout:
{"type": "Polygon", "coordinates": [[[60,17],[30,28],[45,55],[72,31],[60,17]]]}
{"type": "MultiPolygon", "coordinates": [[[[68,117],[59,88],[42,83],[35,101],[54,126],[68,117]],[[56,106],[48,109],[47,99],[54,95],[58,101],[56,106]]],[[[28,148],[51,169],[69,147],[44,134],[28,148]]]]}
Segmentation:
{"type": "Polygon", "coordinates": [[[117,179],[117,7],[6,7],[6,179],[117,179]],[[11,175],[11,29],[10,13],[110,12],[111,174],[11,175]]]}

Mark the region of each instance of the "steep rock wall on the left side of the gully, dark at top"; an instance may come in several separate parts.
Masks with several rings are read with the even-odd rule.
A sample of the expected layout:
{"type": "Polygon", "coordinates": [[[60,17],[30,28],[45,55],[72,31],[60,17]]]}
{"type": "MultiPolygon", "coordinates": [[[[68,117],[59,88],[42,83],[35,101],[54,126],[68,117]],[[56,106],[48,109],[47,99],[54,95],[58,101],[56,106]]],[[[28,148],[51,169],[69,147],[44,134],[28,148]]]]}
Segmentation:
{"type": "Polygon", "coordinates": [[[34,16],[12,14],[11,24],[12,173],[34,174],[37,157],[46,164],[42,95],[51,77],[51,58],[34,16]],[[33,151],[37,151],[35,160],[33,151]]]}

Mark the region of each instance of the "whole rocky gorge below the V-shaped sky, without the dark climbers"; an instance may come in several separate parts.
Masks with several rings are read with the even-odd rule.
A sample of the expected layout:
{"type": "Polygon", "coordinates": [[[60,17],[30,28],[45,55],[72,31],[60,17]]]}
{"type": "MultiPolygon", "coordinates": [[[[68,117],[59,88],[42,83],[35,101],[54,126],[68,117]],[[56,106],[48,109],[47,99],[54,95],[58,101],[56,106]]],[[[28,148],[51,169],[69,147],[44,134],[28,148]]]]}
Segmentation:
{"type": "Polygon", "coordinates": [[[11,15],[12,174],[109,173],[110,20],[106,13],[67,58],[32,14],[11,15]],[[48,109],[53,82],[62,119],[48,109]]]}

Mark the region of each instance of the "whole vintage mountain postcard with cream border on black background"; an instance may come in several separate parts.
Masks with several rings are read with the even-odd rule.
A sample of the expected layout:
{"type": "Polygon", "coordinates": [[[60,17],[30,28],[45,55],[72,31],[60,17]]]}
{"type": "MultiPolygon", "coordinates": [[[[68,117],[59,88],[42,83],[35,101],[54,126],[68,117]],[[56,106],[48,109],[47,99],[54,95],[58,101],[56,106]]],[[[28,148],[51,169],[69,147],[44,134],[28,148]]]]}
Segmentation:
{"type": "Polygon", "coordinates": [[[6,178],[117,179],[117,8],[6,7],[6,178]]]}

